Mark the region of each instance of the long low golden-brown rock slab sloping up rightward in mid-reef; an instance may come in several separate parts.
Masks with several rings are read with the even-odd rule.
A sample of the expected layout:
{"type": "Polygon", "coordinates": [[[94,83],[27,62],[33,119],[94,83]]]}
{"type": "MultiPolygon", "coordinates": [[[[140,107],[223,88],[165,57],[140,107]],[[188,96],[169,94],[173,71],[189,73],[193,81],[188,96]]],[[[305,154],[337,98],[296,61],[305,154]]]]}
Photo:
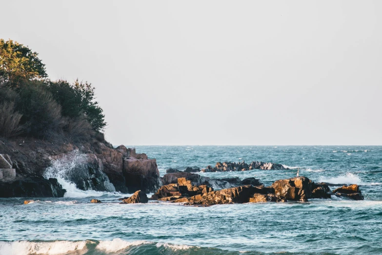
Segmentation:
{"type": "Polygon", "coordinates": [[[267,192],[265,188],[253,187],[252,185],[234,187],[220,191],[211,191],[208,193],[198,194],[192,197],[183,197],[173,200],[173,203],[185,202],[186,205],[216,205],[231,203],[247,203],[254,193],[267,192]]]}

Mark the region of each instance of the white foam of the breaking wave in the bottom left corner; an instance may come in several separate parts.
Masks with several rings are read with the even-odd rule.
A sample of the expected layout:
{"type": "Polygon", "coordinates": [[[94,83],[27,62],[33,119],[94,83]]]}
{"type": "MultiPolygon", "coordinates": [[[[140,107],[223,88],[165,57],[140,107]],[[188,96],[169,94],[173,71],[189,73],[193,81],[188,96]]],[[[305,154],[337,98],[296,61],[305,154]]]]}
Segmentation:
{"type": "Polygon", "coordinates": [[[0,241],[0,255],[17,254],[44,254],[59,255],[76,250],[86,249],[86,244],[91,241],[54,241],[54,242],[29,242],[29,241],[0,241]]]}

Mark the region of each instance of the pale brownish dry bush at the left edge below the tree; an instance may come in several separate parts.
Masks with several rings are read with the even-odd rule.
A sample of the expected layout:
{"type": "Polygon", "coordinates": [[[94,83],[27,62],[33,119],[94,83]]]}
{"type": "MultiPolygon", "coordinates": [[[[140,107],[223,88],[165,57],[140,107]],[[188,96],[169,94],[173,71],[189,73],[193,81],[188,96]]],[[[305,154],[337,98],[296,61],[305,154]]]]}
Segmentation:
{"type": "Polygon", "coordinates": [[[22,114],[15,110],[15,103],[1,103],[0,113],[0,136],[8,138],[19,135],[22,132],[22,127],[19,126],[22,114]]]}

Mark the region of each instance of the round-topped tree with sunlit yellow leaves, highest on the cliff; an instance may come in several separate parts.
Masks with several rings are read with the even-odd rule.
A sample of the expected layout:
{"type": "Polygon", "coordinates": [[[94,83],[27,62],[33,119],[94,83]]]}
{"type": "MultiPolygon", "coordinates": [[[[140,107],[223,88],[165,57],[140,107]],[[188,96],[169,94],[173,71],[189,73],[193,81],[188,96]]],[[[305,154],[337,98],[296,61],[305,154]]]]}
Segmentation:
{"type": "Polygon", "coordinates": [[[18,86],[22,80],[47,77],[45,64],[36,52],[12,40],[0,39],[0,78],[10,86],[18,86]]]}

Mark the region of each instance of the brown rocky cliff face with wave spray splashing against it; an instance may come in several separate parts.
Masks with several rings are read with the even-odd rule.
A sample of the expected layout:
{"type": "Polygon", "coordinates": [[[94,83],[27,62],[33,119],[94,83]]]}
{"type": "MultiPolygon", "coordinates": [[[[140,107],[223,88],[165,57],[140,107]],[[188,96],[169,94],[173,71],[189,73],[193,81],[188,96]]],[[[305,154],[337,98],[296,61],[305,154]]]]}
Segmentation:
{"type": "Polygon", "coordinates": [[[80,190],[153,192],[161,186],[156,160],[124,146],[0,140],[0,153],[16,169],[15,178],[0,179],[0,197],[62,197],[59,177],[80,190]]]}

